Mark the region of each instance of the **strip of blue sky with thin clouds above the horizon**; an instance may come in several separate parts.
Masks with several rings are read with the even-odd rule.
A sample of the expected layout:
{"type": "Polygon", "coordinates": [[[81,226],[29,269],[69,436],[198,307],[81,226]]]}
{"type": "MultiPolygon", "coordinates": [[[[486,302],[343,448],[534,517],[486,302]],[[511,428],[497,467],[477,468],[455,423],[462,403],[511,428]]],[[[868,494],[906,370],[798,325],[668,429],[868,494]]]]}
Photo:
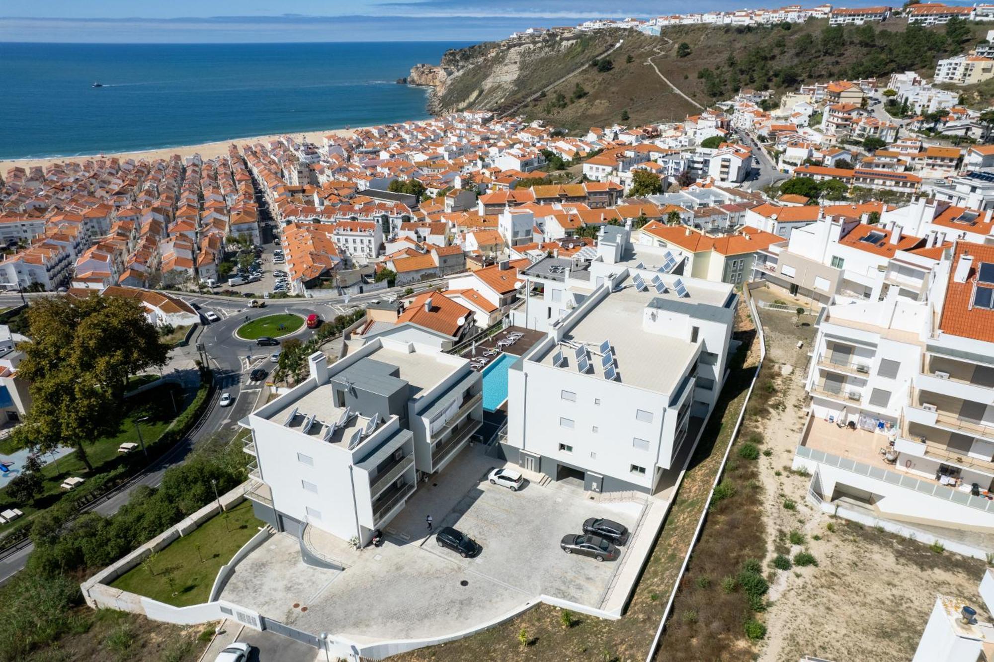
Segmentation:
{"type": "MultiPolygon", "coordinates": [[[[850,0],[845,4],[874,2],[850,0]]],[[[647,17],[784,4],[790,2],[0,0],[0,42],[479,41],[502,39],[533,25],[576,25],[588,18],[647,17]]],[[[820,0],[805,4],[820,4],[820,0]]]]}

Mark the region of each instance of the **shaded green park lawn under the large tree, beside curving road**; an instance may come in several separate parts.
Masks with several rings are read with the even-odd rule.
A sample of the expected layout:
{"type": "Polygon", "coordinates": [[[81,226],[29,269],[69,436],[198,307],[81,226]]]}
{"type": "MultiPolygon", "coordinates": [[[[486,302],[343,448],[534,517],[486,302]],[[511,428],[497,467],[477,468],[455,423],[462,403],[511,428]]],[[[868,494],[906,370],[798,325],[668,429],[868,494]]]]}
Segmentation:
{"type": "MultiPolygon", "coordinates": [[[[96,443],[88,444],[85,447],[86,456],[89,458],[90,464],[93,465],[92,472],[86,470],[83,460],[75,452],[65,457],[60,457],[55,462],[46,464],[42,468],[42,474],[45,476],[44,491],[40,496],[35,497],[32,503],[15,503],[13,499],[7,496],[7,490],[0,489],[0,511],[7,510],[8,508],[20,508],[25,516],[30,516],[36,511],[52,506],[66,496],[68,492],[62,489],[60,485],[69,477],[80,476],[85,478],[86,482],[74,490],[74,493],[84,492],[91,488],[92,481],[97,476],[123,472],[127,469],[128,462],[142,462],[144,458],[142,457],[140,448],[136,448],[125,455],[118,453],[117,447],[124,442],[139,443],[138,431],[135,427],[135,420],[138,418],[148,418],[138,423],[141,426],[141,438],[146,445],[154,443],[166,431],[166,428],[169,427],[169,424],[178,415],[173,412],[173,398],[170,397],[170,392],[172,392],[175,398],[176,407],[182,413],[190,405],[192,394],[184,398],[183,391],[175,385],[164,385],[138,394],[133,398],[128,398],[125,401],[128,413],[124,420],[121,421],[117,434],[102,438],[96,443]]],[[[5,439],[5,441],[9,441],[9,438],[5,439]]],[[[69,443],[71,441],[67,440],[67,445],[69,443]]],[[[0,450],[7,450],[8,452],[13,450],[13,448],[7,447],[9,443],[0,445],[3,446],[0,450]]],[[[16,520],[12,524],[0,525],[0,533],[3,533],[10,527],[19,525],[25,519],[27,517],[16,520]]]]}

